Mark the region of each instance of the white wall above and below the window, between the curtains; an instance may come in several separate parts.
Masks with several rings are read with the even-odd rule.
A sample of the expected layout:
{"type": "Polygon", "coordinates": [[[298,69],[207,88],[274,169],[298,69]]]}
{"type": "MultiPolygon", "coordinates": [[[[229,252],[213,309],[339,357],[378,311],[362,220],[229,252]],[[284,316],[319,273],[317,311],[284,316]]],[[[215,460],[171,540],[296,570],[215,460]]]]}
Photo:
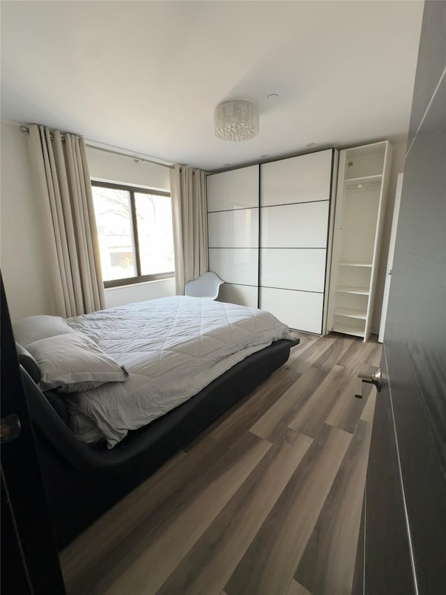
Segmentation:
{"type": "MultiPolygon", "coordinates": [[[[143,186],[154,190],[170,191],[169,167],[137,161],[131,157],[107,153],[87,146],[90,176],[95,180],[143,186]]],[[[124,303],[144,301],[175,295],[175,279],[163,279],[105,289],[107,308],[124,303]]]]}

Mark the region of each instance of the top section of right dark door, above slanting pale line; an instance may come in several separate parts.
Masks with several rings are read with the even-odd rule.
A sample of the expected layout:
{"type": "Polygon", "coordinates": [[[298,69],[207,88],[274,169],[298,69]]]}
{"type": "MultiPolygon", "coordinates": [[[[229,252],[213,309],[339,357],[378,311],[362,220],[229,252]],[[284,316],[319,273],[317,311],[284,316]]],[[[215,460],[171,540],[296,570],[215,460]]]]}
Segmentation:
{"type": "Polygon", "coordinates": [[[421,30],[422,44],[418,54],[408,147],[417,132],[434,89],[445,68],[446,2],[426,0],[421,30]]]}

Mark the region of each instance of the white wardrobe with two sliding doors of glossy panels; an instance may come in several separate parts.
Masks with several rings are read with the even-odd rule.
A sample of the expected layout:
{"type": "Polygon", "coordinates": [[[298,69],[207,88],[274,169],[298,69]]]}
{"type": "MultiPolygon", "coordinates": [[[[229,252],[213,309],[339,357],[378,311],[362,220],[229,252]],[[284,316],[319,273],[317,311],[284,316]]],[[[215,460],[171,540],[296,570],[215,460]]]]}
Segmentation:
{"type": "Polygon", "coordinates": [[[337,151],[208,176],[209,270],[220,299],[325,333],[337,151]]]}

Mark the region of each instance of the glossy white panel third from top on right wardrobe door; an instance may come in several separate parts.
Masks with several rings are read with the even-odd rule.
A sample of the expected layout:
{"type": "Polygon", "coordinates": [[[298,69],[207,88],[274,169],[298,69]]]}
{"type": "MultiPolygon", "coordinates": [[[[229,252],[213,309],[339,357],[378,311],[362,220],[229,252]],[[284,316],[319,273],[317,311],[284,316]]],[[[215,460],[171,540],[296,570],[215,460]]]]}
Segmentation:
{"type": "Polygon", "coordinates": [[[262,248],[261,285],[323,293],[327,250],[262,248]]]}

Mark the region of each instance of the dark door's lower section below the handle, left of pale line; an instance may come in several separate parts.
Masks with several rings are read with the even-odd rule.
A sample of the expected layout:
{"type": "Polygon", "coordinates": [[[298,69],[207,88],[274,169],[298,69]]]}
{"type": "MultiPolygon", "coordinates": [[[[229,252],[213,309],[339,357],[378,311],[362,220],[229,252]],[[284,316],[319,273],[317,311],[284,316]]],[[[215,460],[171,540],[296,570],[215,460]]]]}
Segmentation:
{"type": "MultiPolygon", "coordinates": [[[[387,377],[384,362],[381,366],[381,372],[387,377]]],[[[366,502],[364,595],[414,595],[387,384],[376,399],[366,502]]]]}

